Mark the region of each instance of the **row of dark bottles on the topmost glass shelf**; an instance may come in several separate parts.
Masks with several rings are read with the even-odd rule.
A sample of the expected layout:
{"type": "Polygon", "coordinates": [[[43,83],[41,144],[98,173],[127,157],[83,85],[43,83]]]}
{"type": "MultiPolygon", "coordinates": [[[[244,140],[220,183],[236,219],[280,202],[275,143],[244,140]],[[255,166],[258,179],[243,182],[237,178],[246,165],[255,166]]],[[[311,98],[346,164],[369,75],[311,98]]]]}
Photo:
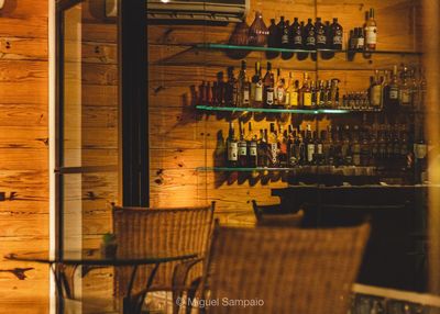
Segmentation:
{"type": "MultiPolygon", "coordinates": [[[[374,20],[374,9],[370,9],[367,19],[362,30],[362,45],[359,41],[356,51],[374,51],[377,42],[377,25],[374,20]]],[[[359,31],[356,32],[359,34],[359,31]]],[[[361,36],[358,36],[360,38],[361,36]]],[[[255,20],[249,30],[249,38],[245,43],[252,46],[265,46],[286,49],[334,49],[343,48],[343,27],[339,24],[338,18],[333,18],[333,22],[322,22],[321,18],[317,18],[315,23],[312,19],[308,19],[307,23],[294,18],[290,21],[285,16],[280,16],[276,24],[275,19],[271,20],[271,25],[267,29],[261,12],[256,12],[255,20]]],[[[243,40],[239,41],[243,43],[243,40]]],[[[350,46],[351,48],[351,46],[350,46]]],[[[293,54],[283,54],[284,57],[292,57],[293,54]]],[[[268,57],[276,57],[276,52],[270,52],[268,57]]]]}

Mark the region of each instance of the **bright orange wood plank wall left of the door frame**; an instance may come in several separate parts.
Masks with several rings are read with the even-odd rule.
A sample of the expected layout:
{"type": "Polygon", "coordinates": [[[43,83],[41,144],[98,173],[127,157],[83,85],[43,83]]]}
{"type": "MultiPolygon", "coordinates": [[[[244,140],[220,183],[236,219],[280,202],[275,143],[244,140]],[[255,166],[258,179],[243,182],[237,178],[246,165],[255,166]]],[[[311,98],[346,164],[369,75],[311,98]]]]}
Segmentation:
{"type": "Polygon", "coordinates": [[[0,313],[48,311],[47,267],[3,259],[48,248],[47,12],[46,0],[0,10],[0,313]]]}

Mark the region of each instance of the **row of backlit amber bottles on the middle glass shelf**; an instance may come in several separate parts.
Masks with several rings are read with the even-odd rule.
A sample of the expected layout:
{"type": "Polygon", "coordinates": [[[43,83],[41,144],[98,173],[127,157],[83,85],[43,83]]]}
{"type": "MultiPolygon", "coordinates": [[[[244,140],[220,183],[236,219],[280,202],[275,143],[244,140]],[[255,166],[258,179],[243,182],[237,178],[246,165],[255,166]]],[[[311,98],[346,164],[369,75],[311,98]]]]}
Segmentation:
{"type": "Polygon", "coordinates": [[[411,108],[422,103],[426,80],[421,68],[402,65],[393,70],[375,70],[367,90],[348,92],[340,97],[338,78],[330,80],[310,80],[307,72],[300,83],[289,72],[284,77],[277,69],[275,78],[272,64],[267,63],[266,74],[262,75],[260,61],[255,63],[255,74],[250,79],[246,61],[242,60],[241,70],[235,78],[234,68],[228,68],[228,79],[220,71],[217,81],[202,83],[198,88],[199,104],[238,108],[283,108],[283,109],[344,109],[381,111],[384,106],[411,108]]]}

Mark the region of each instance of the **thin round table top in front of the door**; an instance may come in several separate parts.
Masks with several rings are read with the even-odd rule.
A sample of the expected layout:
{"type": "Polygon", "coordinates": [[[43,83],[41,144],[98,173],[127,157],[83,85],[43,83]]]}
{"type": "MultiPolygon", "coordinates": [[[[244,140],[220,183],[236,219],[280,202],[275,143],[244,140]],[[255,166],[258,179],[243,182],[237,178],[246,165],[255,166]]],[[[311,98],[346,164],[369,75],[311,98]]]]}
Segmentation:
{"type": "Polygon", "coordinates": [[[64,251],[59,257],[51,257],[48,251],[32,251],[23,254],[10,254],[6,259],[19,261],[34,261],[42,263],[65,263],[65,265],[95,265],[95,266],[130,266],[130,265],[152,265],[176,260],[196,258],[197,254],[124,254],[114,257],[103,256],[99,249],[70,250],[64,251]]]}

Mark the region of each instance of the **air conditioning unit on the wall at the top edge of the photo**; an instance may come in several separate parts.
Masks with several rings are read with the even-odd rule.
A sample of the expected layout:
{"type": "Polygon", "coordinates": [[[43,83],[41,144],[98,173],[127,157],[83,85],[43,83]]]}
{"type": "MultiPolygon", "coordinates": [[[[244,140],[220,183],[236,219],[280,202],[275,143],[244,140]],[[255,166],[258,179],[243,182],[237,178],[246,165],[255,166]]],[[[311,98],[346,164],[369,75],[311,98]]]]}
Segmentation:
{"type": "MultiPolygon", "coordinates": [[[[138,0],[136,0],[138,1],[138,0]]],[[[152,20],[242,22],[250,0],[145,0],[152,20]]],[[[107,16],[118,13],[117,0],[106,0],[107,16]]]]}

